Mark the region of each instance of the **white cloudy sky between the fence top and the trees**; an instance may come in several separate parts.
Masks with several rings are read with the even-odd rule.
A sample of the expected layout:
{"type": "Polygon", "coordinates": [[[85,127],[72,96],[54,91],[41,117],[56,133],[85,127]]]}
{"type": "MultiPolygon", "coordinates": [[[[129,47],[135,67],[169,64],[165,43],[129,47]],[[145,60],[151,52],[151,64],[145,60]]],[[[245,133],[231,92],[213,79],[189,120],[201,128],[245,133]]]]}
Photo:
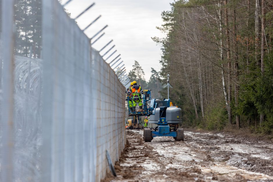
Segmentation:
{"type": "MultiPolygon", "coordinates": [[[[161,12],[170,10],[170,3],[173,0],[74,0],[66,8],[74,18],[93,2],[96,3],[95,6],[77,19],[80,28],[85,28],[96,17],[102,15],[95,24],[85,31],[88,37],[92,37],[98,30],[106,24],[108,25],[104,30],[105,35],[94,44],[94,48],[100,50],[113,39],[114,41],[102,51],[104,53],[112,45],[116,45],[111,51],[117,50],[116,54],[107,62],[121,54],[121,60],[125,62],[128,73],[132,69],[134,60],[137,60],[148,81],[151,67],[157,71],[161,68],[161,64],[159,64],[160,46],[157,46],[151,37],[164,37],[164,34],[156,29],[156,26],[163,23],[161,12]]],[[[107,55],[104,58],[106,57],[107,55]]]]}

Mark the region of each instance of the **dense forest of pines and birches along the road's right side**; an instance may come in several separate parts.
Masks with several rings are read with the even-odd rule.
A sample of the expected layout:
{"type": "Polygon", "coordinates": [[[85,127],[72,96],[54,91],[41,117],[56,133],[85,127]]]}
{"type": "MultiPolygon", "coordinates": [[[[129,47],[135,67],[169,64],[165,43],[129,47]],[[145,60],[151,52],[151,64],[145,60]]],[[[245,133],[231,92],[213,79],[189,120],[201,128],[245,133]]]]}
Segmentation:
{"type": "Polygon", "coordinates": [[[179,0],[161,15],[159,76],[184,125],[272,134],[273,1],[179,0]]]}

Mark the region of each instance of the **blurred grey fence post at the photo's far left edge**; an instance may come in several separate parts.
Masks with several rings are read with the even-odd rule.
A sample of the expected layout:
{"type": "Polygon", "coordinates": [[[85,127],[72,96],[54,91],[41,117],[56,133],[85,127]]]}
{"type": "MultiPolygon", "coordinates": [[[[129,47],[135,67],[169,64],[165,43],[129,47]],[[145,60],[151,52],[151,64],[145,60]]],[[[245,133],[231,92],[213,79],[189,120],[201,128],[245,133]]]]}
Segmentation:
{"type": "MultiPolygon", "coordinates": [[[[12,181],[14,176],[14,0],[2,1],[3,96],[1,100],[1,176],[12,181]]],[[[1,60],[2,61],[2,60],[1,60]]]]}

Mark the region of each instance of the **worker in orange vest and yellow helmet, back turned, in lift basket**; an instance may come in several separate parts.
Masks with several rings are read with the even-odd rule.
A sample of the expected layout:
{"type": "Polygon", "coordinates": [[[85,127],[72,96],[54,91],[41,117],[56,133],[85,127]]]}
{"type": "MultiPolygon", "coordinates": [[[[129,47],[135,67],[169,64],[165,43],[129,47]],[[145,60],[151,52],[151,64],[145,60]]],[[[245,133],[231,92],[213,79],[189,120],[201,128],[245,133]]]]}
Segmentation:
{"type": "Polygon", "coordinates": [[[142,102],[141,102],[141,93],[143,90],[141,89],[140,85],[137,85],[136,81],[132,82],[133,86],[128,90],[128,94],[132,96],[133,101],[133,111],[136,111],[137,103],[139,105],[139,109],[142,109],[142,102]],[[137,94],[140,93],[140,94],[137,94]]]}

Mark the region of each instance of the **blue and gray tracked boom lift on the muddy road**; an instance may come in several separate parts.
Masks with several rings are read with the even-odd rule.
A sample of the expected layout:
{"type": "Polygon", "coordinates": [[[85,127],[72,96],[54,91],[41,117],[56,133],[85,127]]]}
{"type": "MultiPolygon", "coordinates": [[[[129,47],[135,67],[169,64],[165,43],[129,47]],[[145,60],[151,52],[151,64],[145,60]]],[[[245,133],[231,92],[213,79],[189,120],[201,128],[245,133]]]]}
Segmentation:
{"type": "MultiPolygon", "coordinates": [[[[151,99],[150,90],[144,90],[139,94],[142,95],[141,103],[143,109],[136,109],[136,111],[130,110],[129,95],[127,95],[129,111],[128,116],[150,116],[149,124],[157,125],[155,128],[144,129],[144,141],[151,142],[152,139],[157,136],[172,136],[177,141],[184,140],[184,130],[182,128],[178,128],[178,124],[182,122],[181,109],[178,107],[170,106],[169,98],[162,101],[151,99]]],[[[138,106],[140,103],[136,104],[138,106]]]]}

